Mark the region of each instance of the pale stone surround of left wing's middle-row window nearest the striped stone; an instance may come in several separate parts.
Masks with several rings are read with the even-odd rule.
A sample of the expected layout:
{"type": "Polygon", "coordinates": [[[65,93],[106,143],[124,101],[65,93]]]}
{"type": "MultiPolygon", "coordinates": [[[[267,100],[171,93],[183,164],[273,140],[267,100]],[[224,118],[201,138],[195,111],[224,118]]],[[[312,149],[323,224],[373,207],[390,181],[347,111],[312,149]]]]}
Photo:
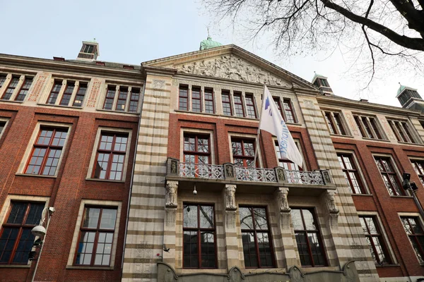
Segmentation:
{"type": "Polygon", "coordinates": [[[95,141],[94,141],[94,145],[93,145],[94,147],[93,147],[93,150],[92,150],[93,152],[91,153],[90,166],[88,166],[88,172],[87,172],[86,180],[125,182],[125,180],[126,180],[126,170],[128,169],[128,162],[129,162],[129,149],[131,147],[131,137],[132,137],[132,130],[131,129],[110,128],[110,127],[105,127],[105,126],[99,126],[98,131],[95,135],[95,141]],[[128,141],[126,142],[124,169],[122,170],[122,180],[99,179],[99,178],[91,177],[93,175],[94,164],[95,164],[95,161],[96,161],[95,157],[97,155],[100,136],[102,134],[102,131],[109,132],[109,133],[126,133],[126,134],[128,134],[128,141]]]}

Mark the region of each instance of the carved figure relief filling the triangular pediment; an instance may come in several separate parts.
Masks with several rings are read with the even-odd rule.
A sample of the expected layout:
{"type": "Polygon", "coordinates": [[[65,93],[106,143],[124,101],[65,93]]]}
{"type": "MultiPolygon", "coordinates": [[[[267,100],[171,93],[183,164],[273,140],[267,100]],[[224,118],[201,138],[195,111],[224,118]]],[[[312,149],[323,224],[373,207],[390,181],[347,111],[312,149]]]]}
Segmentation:
{"type": "Polygon", "coordinates": [[[176,68],[181,73],[291,87],[288,82],[281,78],[277,78],[275,75],[247,63],[232,54],[214,59],[206,59],[200,62],[184,63],[183,65],[176,66],[176,68]]]}

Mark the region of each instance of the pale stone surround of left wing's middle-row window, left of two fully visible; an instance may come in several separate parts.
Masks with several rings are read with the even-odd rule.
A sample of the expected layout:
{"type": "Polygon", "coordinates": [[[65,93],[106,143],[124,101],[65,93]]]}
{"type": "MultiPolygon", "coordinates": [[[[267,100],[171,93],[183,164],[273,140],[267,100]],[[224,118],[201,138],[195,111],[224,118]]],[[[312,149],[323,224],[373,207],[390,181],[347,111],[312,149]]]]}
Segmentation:
{"type": "Polygon", "coordinates": [[[65,151],[67,149],[67,145],[69,142],[69,135],[71,135],[71,130],[72,130],[72,125],[70,125],[69,123],[52,123],[52,122],[45,122],[45,121],[39,121],[37,123],[37,125],[35,125],[35,128],[33,130],[33,135],[31,135],[30,141],[28,142],[28,146],[25,149],[25,154],[23,155],[22,161],[20,161],[20,165],[18,168],[18,172],[16,174],[23,174],[25,176],[36,176],[36,177],[48,177],[48,178],[56,178],[57,174],[59,173],[60,167],[61,167],[61,162],[64,159],[64,154],[65,151]],[[59,162],[57,163],[57,168],[56,171],[54,172],[54,176],[44,176],[42,174],[30,174],[30,173],[25,173],[25,166],[28,163],[29,158],[31,157],[30,154],[33,151],[33,147],[35,144],[35,141],[37,140],[37,136],[38,133],[40,133],[40,129],[42,126],[49,126],[49,127],[54,127],[54,128],[67,128],[67,134],[66,134],[66,139],[64,142],[64,146],[62,147],[62,152],[60,154],[60,158],[59,158],[59,162]]]}

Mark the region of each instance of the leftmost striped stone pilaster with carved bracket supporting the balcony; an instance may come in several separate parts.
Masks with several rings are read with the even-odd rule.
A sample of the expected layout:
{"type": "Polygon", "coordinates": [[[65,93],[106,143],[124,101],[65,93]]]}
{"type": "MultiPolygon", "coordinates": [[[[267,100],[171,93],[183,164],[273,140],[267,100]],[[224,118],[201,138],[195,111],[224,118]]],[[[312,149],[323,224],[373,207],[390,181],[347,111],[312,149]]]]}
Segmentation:
{"type": "Polygon", "coordinates": [[[165,226],[163,235],[163,262],[175,268],[175,223],[177,219],[178,181],[165,185],[165,226]],[[168,250],[169,249],[169,250],[168,250]]]}

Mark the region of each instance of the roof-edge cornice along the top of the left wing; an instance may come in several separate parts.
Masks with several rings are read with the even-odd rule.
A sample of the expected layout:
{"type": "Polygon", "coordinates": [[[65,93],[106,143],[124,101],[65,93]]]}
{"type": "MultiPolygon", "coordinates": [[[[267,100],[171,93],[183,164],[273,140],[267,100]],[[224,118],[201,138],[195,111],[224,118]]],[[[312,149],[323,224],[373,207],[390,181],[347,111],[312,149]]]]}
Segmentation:
{"type": "Polygon", "coordinates": [[[51,59],[40,59],[26,56],[14,56],[0,54],[0,65],[33,68],[40,71],[59,71],[65,73],[78,73],[86,75],[99,75],[105,77],[144,80],[139,70],[129,70],[125,68],[111,68],[107,66],[97,66],[88,63],[75,63],[70,61],[54,61],[51,59]]]}

